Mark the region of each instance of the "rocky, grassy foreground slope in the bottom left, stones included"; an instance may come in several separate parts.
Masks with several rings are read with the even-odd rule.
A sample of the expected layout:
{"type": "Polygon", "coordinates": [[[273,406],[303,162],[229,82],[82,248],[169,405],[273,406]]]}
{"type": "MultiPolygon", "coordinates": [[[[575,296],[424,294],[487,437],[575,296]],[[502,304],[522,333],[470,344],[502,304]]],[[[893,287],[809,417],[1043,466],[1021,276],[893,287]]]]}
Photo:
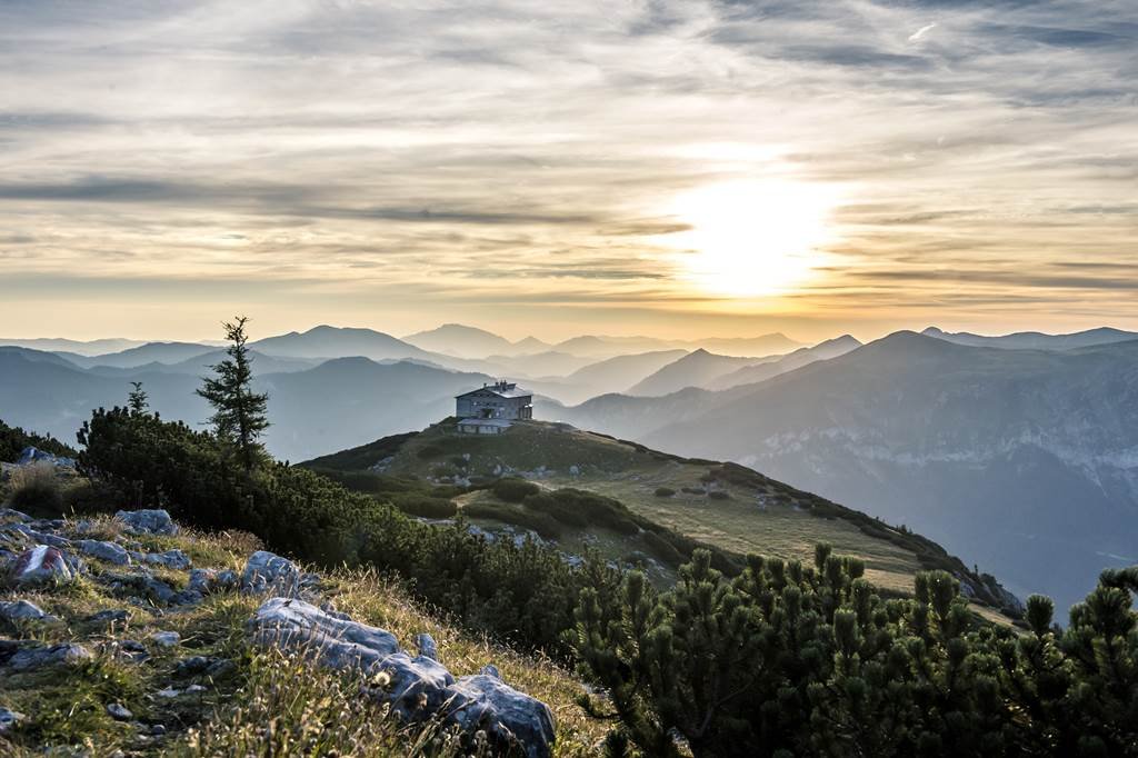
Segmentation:
{"type": "Polygon", "coordinates": [[[0,510],[0,755],[595,753],[549,661],[258,547],[164,511],[0,510]]]}

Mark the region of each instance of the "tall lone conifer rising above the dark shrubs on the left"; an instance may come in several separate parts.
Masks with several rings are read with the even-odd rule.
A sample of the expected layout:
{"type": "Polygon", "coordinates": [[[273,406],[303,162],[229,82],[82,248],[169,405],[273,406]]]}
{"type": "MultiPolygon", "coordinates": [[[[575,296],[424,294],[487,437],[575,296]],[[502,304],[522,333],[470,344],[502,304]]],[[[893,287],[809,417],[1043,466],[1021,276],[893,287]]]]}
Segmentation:
{"type": "Polygon", "coordinates": [[[225,339],[230,343],[225,349],[229,357],[209,366],[217,376],[203,378],[198,395],[214,407],[209,422],[218,439],[232,445],[241,465],[251,472],[264,458],[259,438],[261,432],[269,428],[265,415],[269,395],[253,392],[253,356],[249,355],[245,333],[248,320],[247,316],[237,316],[232,322],[222,324],[225,339]]]}

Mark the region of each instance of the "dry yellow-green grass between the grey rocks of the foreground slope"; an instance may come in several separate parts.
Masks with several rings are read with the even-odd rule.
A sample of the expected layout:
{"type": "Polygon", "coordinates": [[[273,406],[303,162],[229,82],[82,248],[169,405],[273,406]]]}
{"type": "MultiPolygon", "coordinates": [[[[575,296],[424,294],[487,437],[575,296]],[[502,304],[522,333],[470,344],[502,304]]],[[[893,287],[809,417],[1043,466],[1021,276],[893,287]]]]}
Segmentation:
{"type": "MultiPolygon", "coordinates": [[[[116,524],[101,521],[101,536],[116,533],[116,524]]],[[[195,566],[240,569],[256,549],[248,535],[140,537],[146,550],[180,547],[195,566]]],[[[91,571],[121,570],[89,560],[91,571]]],[[[156,576],[184,586],[187,572],[157,570],[156,576]]],[[[558,719],[558,756],[594,755],[593,745],[607,728],[588,718],[574,698],[582,685],[549,660],[518,654],[471,636],[410,601],[396,585],[374,572],[343,571],[324,576],[322,593],[338,610],[396,634],[407,649],[427,632],[438,642],[439,660],[456,676],[477,673],[486,664],[497,666],[517,689],[550,705],[558,719]]],[[[272,755],[300,755],[306,740],[322,740],[314,755],[338,750],[340,755],[406,756],[415,753],[421,731],[399,728],[358,694],[361,682],[314,668],[279,652],[267,653],[248,643],[245,624],[263,598],[237,592],[214,594],[183,609],[138,608],[110,594],[104,585],[84,577],[74,585],[40,592],[15,591],[0,585],[0,600],[25,599],[61,623],[0,621],[0,636],[44,642],[77,642],[96,652],[89,664],[61,673],[58,667],[6,675],[0,686],[0,707],[28,718],[0,738],[0,755],[41,755],[49,745],[89,745],[90,755],[110,755],[116,749],[131,755],[262,755],[269,749],[263,728],[275,719],[272,755]],[[127,608],[125,625],[106,627],[83,619],[99,610],[127,608]],[[152,632],[174,631],[179,646],[163,650],[148,642],[152,632]],[[151,658],[129,662],[114,654],[117,642],[147,644],[151,658]],[[217,681],[179,678],[174,668],[190,656],[217,656],[237,662],[237,670],[217,681]],[[163,698],[168,686],[183,689],[199,683],[204,691],[163,698]],[[134,720],[162,724],[164,736],[140,733],[137,725],[116,722],[106,706],[122,703],[134,720]],[[319,735],[319,736],[316,736],[319,735]],[[352,745],[355,744],[355,748],[352,745]]],[[[311,744],[311,742],[310,742],[311,744]]],[[[267,753],[265,753],[267,755],[267,753]]],[[[444,755],[450,755],[444,752],[444,755]]]]}

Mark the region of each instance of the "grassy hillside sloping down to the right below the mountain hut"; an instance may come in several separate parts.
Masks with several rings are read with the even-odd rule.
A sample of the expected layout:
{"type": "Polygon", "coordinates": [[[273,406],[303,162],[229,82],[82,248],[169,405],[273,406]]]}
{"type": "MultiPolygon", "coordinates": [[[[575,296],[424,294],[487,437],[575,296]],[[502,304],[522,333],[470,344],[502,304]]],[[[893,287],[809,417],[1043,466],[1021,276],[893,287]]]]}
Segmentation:
{"type": "MultiPolygon", "coordinates": [[[[946,568],[965,577],[986,601],[978,609],[991,613],[990,607],[999,602],[993,582],[973,575],[935,543],[740,465],[668,455],[539,421],[516,423],[496,437],[459,435],[452,429],[442,422],[302,465],[338,473],[348,486],[376,493],[389,491],[391,479],[477,487],[502,476],[519,476],[545,492],[574,488],[611,497],[654,525],[726,551],[728,558],[761,553],[806,560],[817,542],[828,542],[840,552],[863,557],[866,576],[885,590],[908,593],[918,570],[946,568]],[[658,494],[661,488],[670,493],[658,494]]],[[[493,489],[448,494],[460,510],[473,505],[471,520],[487,530],[517,534],[520,527],[523,534],[530,528],[533,514],[502,502],[493,489]]],[[[615,560],[638,551],[659,559],[651,546],[642,544],[644,530],[642,526],[632,535],[597,536],[604,530],[562,528],[563,534],[552,539],[569,553],[591,545],[609,551],[615,560]]],[[[670,576],[667,562],[661,563],[655,567],[657,579],[670,576]]]]}

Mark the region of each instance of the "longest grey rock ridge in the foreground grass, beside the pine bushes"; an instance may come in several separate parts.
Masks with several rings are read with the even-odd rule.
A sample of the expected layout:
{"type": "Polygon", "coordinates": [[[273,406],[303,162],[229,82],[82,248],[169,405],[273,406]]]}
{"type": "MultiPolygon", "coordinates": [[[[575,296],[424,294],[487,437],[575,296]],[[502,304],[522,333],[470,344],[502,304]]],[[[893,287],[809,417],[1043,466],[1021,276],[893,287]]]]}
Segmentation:
{"type": "Polygon", "coordinates": [[[553,714],[545,703],[506,685],[496,669],[455,678],[434,659],[435,643],[427,635],[412,657],[391,633],[295,598],[265,601],[250,626],[261,644],[373,676],[370,694],[404,719],[439,718],[468,734],[485,732],[498,749],[520,749],[527,758],[552,755],[553,714]]]}

